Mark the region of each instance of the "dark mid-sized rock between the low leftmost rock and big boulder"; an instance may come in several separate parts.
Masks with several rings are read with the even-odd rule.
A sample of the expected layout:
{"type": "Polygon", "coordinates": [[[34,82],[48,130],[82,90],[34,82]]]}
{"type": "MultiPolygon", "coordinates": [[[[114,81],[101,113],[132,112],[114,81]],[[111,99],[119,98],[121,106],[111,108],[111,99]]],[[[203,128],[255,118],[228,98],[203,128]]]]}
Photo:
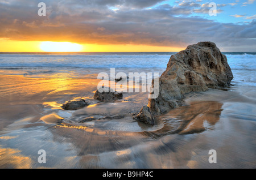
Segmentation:
{"type": "Polygon", "coordinates": [[[98,101],[113,101],[113,100],[120,100],[123,98],[123,94],[122,93],[118,93],[118,92],[112,92],[111,88],[105,89],[105,91],[103,91],[104,88],[102,89],[97,89],[97,91],[94,93],[94,100],[98,100],[98,101]]]}

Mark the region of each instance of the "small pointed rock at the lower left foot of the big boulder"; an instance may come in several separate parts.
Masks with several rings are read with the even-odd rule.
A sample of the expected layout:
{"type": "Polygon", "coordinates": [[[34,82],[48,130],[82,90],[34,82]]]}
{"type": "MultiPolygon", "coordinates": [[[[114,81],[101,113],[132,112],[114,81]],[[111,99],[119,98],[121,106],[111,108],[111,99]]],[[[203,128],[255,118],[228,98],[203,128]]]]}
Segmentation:
{"type": "Polygon", "coordinates": [[[148,125],[155,125],[155,118],[152,115],[151,110],[150,108],[148,108],[148,106],[143,106],[141,112],[139,112],[135,119],[148,125]]]}

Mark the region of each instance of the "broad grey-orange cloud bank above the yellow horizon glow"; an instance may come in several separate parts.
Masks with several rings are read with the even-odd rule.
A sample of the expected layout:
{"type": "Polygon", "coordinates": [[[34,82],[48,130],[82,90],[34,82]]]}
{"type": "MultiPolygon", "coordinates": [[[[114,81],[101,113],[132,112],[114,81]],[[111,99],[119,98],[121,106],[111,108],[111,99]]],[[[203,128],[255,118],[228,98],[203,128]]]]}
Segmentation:
{"type": "Polygon", "coordinates": [[[156,0],[44,1],[47,16],[38,16],[39,2],[0,0],[0,38],[156,46],[214,41],[232,48],[227,50],[255,47],[255,20],[238,25],[200,18],[196,9],[208,11],[200,1],[175,6],[156,0]]]}

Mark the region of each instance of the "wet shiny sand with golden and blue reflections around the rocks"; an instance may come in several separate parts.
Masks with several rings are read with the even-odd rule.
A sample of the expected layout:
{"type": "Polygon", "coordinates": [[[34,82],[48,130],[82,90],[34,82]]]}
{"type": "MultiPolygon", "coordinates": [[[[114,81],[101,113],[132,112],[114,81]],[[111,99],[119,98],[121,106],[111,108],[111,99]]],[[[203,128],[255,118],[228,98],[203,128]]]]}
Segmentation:
{"type": "Polygon", "coordinates": [[[254,87],[191,93],[184,106],[148,126],[132,118],[147,104],[147,93],[98,102],[98,82],[93,75],[0,75],[0,168],[256,168],[254,87]],[[60,108],[80,97],[90,106],[60,108]],[[96,120],[79,123],[92,116],[96,120]],[[38,163],[40,149],[46,164],[38,163]],[[217,151],[216,164],[208,161],[210,149],[217,151]]]}

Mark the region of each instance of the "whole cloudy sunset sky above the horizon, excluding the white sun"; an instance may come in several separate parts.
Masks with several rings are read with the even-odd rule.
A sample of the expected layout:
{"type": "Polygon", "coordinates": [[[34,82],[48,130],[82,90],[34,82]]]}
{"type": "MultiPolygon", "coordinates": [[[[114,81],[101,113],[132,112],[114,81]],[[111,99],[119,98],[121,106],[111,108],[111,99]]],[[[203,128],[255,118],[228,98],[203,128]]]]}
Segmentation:
{"type": "Polygon", "coordinates": [[[255,10],[256,0],[0,0],[0,52],[43,52],[44,41],[82,52],[177,52],[199,41],[256,52],[255,10]]]}

